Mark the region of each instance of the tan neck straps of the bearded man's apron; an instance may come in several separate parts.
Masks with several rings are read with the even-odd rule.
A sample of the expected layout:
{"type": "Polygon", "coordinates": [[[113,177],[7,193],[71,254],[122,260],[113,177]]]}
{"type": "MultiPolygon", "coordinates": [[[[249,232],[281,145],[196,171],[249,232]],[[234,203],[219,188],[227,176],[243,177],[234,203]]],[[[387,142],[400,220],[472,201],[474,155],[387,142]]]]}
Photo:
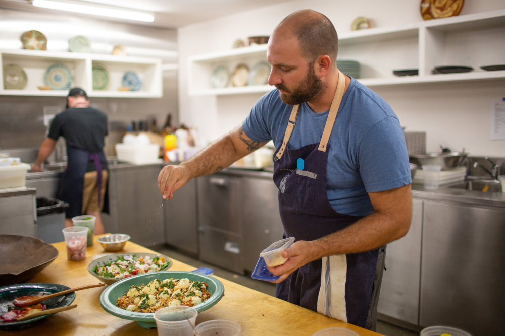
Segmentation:
{"type": "MultiPolygon", "coordinates": [[[[333,100],[330,106],[330,112],[328,113],[328,118],[326,119],[326,124],[324,126],[323,135],[321,137],[321,142],[319,143],[318,150],[322,152],[326,152],[326,145],[328,144],[328,140],[330,138],[331,130],[333,129],[333,124],[335,122],[335,118],[337,116],[338,107],[340,106],[340,102],[342,101],[342,96],[345,90],[345,77],[344,74],[338,70],[338,81],[337,88],[335,90],[335,96],[333,96],[333,100]]],[[[289,142],[289,138],[291,138],[291,133],[293,132],[293,128],[296,125],[296,118],[298,116],[298,110],[300,105],[294,105],[291,110],[291,115],[289,116],[289,121],[287,123],[286,132],[284,133],[284,139],[282,140],[282,145],[279,148],[279,151],[275,154],[275,161],[280,160],[284,151],[286,150],[287,143],[289,142]]]]}

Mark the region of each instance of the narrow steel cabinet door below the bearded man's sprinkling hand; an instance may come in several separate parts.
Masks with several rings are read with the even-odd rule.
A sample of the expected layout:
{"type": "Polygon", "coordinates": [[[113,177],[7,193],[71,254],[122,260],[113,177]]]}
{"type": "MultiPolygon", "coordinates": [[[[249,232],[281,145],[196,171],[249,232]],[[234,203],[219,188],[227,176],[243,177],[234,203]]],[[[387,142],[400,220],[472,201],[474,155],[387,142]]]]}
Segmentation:
{"type": "Polygon", "coordinates": [[[190,180],[174,193],[172,199],[164,201],[165,241],[193,255],[198,253],[196,227],[196,184],[190,180]]]}

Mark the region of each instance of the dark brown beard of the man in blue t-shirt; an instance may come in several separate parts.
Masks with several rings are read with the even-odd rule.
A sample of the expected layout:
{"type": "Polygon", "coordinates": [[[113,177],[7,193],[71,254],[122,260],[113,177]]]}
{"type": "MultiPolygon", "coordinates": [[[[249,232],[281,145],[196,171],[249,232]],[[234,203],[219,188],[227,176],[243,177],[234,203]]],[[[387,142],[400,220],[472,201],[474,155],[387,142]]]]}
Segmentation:
{"type": "Polygon", "coordinates": [[[304,80],[302,80],[300,85],[294,88],[292,92],[282,84],[278,84],[275,87],[278,90],[285,91],[285,93],[279,92],[279,97],[284,103],[288,105],[298,105],[311,101],[317,98],[318,95],[321,95],[324,89],[324,83],[316,76],[314,69],[309,67],[304,80]]]}

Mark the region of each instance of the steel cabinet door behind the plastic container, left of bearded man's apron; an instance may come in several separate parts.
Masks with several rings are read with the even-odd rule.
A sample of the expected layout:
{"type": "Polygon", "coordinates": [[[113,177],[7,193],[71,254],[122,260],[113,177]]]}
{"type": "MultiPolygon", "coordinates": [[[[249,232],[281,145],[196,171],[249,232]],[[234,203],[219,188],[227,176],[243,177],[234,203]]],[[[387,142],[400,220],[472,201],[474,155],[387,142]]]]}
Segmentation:
{"type": "Polygon", "coordinates": [[[260,252],[282,239],[277,187],[272,178],[242,178],[244,268],[252,273],[260,252]]]}

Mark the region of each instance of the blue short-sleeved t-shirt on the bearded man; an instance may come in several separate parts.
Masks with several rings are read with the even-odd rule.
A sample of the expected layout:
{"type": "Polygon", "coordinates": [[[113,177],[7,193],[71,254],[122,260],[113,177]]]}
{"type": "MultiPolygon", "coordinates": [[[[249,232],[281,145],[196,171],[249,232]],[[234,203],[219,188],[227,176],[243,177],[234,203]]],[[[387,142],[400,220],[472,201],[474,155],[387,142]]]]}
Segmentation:
{"type": "MultiPolygon", "coordinates": [[[[254,141],[272,140],[279,148],[292,106],[277,90],[265,94],[243,122],[254,141]]],[[[300,105],[288,148],[319,144],[329,110],[314,113],[300,105]]],[[[328,200],[341,214],[366,216],[374,209],[367,192],[412,183],[405,135],[393,110],[379,95],[351,78],[328,142],[326,185],[328,200]]]]}

